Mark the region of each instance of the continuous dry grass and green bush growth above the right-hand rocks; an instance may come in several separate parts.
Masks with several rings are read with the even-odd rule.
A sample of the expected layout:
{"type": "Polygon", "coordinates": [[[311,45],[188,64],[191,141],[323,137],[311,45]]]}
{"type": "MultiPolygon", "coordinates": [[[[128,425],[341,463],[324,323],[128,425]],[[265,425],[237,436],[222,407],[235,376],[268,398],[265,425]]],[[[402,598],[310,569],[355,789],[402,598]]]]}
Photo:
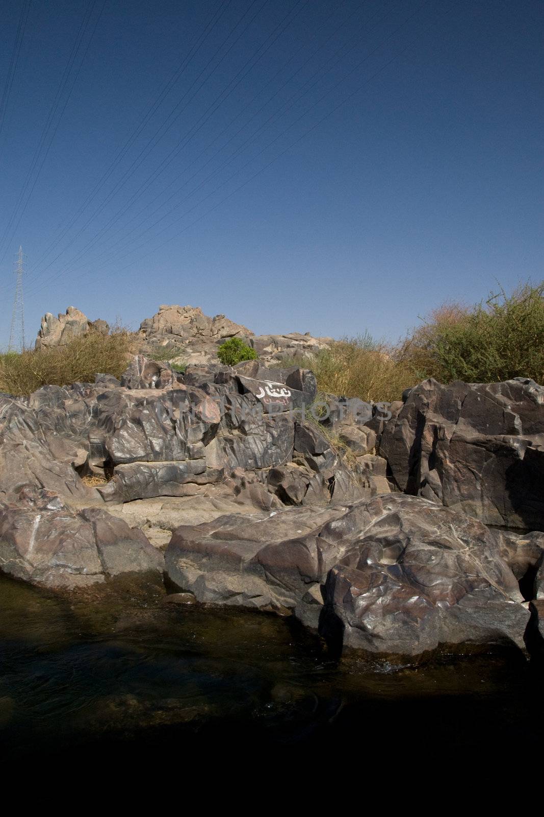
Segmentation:
{"type": "MultiPolygon", "coordinates": [[[[299,363],[300,364],[300,363],[299,363]]],[[[446,303],[395,344],[345,337],[302,362],[325,394],[400,400],[427,377],[442,383],[544,382],[544,283],[501,289],[474,306],[446,303]]]]}

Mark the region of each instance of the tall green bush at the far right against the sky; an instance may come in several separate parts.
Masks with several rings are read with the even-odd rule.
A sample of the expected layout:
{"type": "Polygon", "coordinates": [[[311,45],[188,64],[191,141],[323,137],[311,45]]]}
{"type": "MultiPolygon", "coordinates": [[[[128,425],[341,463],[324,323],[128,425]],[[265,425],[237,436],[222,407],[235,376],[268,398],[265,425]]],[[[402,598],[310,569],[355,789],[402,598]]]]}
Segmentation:
{"type": "Polygon", "coordinates": [[[442,306],[414,331],[399,353],[417,379],[443,383],[544,382],[544,283],[502,290],[471,308],[442,306]]]}

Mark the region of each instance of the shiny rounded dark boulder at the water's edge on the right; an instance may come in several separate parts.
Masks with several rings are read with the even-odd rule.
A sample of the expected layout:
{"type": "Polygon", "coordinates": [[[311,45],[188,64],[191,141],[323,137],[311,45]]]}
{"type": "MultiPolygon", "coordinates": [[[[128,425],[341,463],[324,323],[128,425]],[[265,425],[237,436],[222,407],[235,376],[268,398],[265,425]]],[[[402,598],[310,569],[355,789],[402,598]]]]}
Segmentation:
{"type": "MultiPolygon", "coordinates": [[[[349,516],[359,513],[342,524],[352,528],[349,516]]],[[[523,648],[529,614],[494,531],[397,495],[373,500],[366,513],[369,524],[327,576],[325,636],[342,632],[343,645],[385,654],[461,643],[523,648]]]]}

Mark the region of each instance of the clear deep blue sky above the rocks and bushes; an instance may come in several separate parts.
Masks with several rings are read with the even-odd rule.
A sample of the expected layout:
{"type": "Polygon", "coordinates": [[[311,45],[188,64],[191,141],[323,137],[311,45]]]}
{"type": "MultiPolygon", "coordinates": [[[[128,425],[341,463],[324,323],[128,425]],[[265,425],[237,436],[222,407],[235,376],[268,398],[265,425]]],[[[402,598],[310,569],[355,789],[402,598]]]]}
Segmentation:
{"type": "Polygon", "coordinates": [[[542,279],[541,0],[0,7],[0,346],[20,244],[32,342],[70,304],[396,338],[542,279]]]}

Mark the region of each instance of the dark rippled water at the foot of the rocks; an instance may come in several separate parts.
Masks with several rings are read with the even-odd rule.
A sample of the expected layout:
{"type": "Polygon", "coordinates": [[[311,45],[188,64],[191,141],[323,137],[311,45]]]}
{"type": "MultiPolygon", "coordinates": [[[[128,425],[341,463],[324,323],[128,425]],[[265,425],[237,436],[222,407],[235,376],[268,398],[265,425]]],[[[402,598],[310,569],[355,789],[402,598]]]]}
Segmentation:
{"type": "Polygon", "coordinates": [[[334,748],[394,769],[530,757],[540,741],[544,673],[520,654],[336,662],[291,619],[164,599],[160,587],[59,597],[0,578],[5,761],[334,748]]]}

